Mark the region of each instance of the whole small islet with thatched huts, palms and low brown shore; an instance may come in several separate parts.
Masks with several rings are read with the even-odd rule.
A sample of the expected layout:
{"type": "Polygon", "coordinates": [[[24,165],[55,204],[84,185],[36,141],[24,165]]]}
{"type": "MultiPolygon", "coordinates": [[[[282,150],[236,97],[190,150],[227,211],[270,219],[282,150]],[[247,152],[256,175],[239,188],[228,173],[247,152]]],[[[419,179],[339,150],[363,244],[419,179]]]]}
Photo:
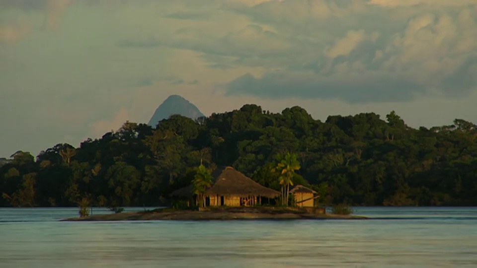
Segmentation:
{"type": "Polygon", "coordinates": [[[347,208],[341,209],[339,214],[326,213],[324,207],[317,206],[318,193],[303,185],[289,190],[291,181],[287,180],[285,166],[288,166],[291,177],[290,167],[295,161],[291,154],[283,159],[288,164],[280,170],[285,182],[282,183],[284,187],[281,193],[258,184],[232,167],[218,168],[210,173],[210,170],[201,165],[191,185],[171,193],[173,207],[82,215],[64,221],[366,219],[350,215],[352,211],[347,208]],[[292,206],[289,205],[290,200],[292,206]]]}

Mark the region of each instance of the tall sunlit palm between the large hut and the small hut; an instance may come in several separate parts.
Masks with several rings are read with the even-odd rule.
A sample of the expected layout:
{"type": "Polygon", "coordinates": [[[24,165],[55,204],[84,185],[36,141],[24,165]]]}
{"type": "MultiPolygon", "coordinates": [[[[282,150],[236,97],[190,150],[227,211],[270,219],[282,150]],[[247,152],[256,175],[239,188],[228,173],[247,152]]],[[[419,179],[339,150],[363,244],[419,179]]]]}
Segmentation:
{"type": "Polygon", "coordinates": [[[294,153],[286,153],[277,157],[278,163],[272,172],[279,173],[280,185],[282,186],[282,204],[288,206],[288,198],[290,195],[290,186],[293,186],[293,177],[295,171],[300,169],[300,162],[297,160],[297,155],[294,153]]]}

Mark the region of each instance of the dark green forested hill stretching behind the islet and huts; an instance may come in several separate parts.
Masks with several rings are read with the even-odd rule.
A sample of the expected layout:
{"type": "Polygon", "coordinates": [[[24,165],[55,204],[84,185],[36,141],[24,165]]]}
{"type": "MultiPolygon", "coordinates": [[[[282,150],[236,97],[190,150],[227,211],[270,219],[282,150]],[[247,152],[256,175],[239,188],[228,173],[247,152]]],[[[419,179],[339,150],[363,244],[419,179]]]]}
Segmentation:
{"type": "Polygon", "coordinates": [[[354,205],[477,205],[477,128],[463,120],[409,128],[394,112],[330,116],[256,105],[193,121],[171,116],[153,129],[125,123],[79,148],[58,144],[36,160],[17,152],[0,168],[1,205],[67,206],[83,197],[110,206],[156,205],[188,185],[201,162],[234,166],[279,190],[276,155],[292,152],[321,202],[354,205]]]}

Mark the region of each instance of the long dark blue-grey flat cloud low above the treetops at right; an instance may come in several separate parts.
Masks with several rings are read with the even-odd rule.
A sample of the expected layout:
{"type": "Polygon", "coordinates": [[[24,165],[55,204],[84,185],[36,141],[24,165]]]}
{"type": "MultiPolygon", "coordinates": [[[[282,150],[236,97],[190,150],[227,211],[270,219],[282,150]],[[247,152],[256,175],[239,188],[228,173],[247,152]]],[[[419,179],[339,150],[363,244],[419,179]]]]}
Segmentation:
{"type": "Polygon", "coordinates": [[[245,74],[226,85],[229,95],[262,98],[339,99],[349,103],[403,102],[425,87],[392,74],[325,77],[314,73],[267,73],[261,78],[245,74]],[[400,89],[400,90],[399,90],[400,89]]]}

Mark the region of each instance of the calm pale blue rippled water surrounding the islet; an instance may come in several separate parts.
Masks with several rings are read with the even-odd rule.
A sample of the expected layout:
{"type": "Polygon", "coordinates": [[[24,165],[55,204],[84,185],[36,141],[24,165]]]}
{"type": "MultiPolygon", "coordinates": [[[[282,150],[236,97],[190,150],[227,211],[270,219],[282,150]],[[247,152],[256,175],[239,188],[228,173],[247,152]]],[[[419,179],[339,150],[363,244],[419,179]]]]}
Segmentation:
{"type": "Polygon", "coordinates": [[[77,209],[0,208],[0,267],[477,267],[476,207],[356,210],[376,219],[59,222],[77,209]]]}

